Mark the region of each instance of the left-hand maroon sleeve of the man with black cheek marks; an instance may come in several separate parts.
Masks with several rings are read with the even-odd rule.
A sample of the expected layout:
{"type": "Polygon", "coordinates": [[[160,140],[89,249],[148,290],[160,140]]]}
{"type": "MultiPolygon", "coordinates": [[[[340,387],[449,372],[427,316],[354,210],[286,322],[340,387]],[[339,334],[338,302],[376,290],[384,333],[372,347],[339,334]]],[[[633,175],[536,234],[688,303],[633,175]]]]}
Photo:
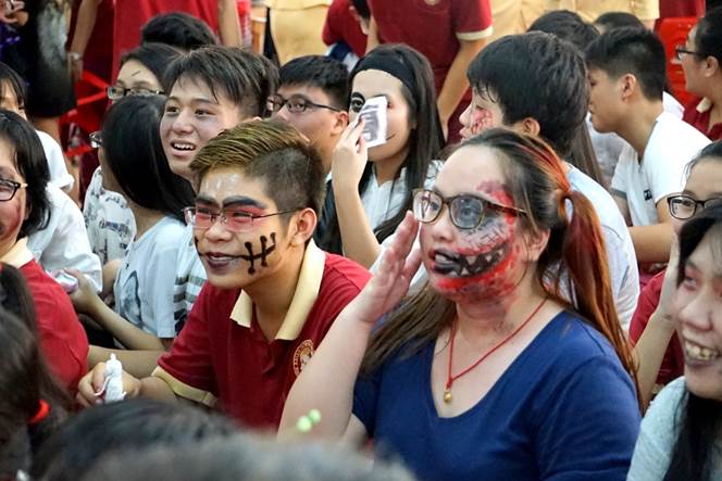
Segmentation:
{"type": "Polygon", "coordinates": [[[207,405],[215,404],[217,393],[208,328],[212,304],[211,291],[203,288],[186,326],[153,371],[176,395],[207,405]]]}

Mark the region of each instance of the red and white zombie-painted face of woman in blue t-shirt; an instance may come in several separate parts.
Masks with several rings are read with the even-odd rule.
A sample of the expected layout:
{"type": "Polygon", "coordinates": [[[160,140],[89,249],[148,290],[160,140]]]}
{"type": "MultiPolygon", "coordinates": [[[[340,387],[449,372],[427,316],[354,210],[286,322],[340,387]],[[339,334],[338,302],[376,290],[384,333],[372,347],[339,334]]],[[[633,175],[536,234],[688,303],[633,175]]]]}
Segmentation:
{"type": "MultiPolygon", "coordinates": [[[[483,147],[462,148],[451,155],[436,188],[446,197],[470,193],[514,206],[496,153],[483,147]]],[[[453,226],[448,211],[423,225],[422,252],[432,287],[457,302],[500,302],[523,275],[518,226],[518,215],[486,206],[484,219],[474,229],[453,226]]]]}

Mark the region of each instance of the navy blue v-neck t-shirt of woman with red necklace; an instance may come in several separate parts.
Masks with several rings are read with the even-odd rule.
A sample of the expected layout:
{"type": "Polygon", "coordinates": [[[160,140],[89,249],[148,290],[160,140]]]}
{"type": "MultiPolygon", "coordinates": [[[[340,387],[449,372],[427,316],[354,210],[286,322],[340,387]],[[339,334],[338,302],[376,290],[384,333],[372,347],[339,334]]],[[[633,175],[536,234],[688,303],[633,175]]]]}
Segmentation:
{"type": "Polygon", "coordinates": [[[357,381],[353,414],[377,453],[422,480],[626,478],[640,421],[634,384],[575,315],[556,316],[478,404],[452,418],[434,405],[433,355],[430,343],[357,381]]]}

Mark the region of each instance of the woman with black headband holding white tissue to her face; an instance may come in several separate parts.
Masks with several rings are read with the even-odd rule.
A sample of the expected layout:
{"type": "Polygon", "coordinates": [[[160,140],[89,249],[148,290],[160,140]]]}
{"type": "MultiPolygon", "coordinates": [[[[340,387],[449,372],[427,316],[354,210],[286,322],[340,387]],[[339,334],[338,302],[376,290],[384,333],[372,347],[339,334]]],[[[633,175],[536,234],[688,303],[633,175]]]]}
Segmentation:
{"type": "MultiPolygon", "coordinates": [[[[443,142],[428,61],[402,45],[374,49],[351,73],[349,126],[334,150],[332,190],[324,206],[321,246],[370,267],[381,244],[411,208],[413,189],[430,187],[443,142]],[[364,104],[384,98],[386,141],[366,148],[364,104]]],[[[371,123],[372,121],[369,121],[371,123]]]]}

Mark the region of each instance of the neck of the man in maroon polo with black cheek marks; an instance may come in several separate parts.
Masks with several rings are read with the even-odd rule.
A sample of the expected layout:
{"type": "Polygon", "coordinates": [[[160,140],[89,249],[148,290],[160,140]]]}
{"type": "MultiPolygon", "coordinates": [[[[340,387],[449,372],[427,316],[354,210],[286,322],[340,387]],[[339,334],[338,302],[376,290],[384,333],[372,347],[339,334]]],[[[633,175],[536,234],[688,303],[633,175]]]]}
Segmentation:
{"type": "Polygon", "coordinates": [[[275,339],[294,300],[304,253],[304,245],[291,246],[284,254],[278,270],[245,288],[253,300],[256,319],[269,341],[275,339]]]}

